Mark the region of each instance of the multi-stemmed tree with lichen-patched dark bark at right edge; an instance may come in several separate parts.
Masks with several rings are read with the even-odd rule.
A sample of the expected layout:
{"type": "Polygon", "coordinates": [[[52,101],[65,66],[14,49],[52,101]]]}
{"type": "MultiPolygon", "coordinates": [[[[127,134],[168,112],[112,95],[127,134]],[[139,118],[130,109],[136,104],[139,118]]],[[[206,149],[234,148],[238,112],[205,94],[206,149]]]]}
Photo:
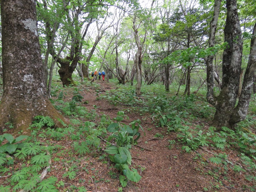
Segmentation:
{"type": "MultiPolygon", "coordinates": [[[[215,44],[216,26],[220,12],[221,0],[215,0],[213,19],[210,23],[209,47],[215,44]]],[[[241,74],[243,40],[238,18],[236,0],[227,0],[227,19],[224,28],[224,41],[228,44],[223,52],[222,59],[222,89],[216,96],[213,92],[213,56],[207,58],[207,101],[211,103],[216,112],[212,125],[218,130],[222,126],[234,128],[235,124],[242,121],[247,113],[251,97],[253,76],[256,68],[256,24],[254,25],[250,55],[244,75],[242,92],[237,106],[236,99],[239,90],[241,74]]]]}

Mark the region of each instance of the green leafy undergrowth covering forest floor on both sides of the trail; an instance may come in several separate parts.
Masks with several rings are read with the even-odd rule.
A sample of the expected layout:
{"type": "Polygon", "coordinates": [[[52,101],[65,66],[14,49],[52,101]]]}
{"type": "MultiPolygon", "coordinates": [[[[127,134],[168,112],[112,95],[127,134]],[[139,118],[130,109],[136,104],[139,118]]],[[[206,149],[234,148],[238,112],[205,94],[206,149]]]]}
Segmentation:
{"type": "MultiPolygon", "coordinates": [[[[90,84],[90,81],[81,84],[77,80],[76,85],[62,87],[60,82],[54,82],[51,91],[52,104],[70,119],[70,124],[62,122],[63,127],[60,128],[50,117],[36,116],[29,127],[29,137],[20,132],[20,136],[14,138],[4,130],[6,133],[0,136],[0,191],[82,192],[87,191],[86,186],[92,179],[106,183],[119,179],[118,191],[122,191],[128,183],[141,179],[138,171],[141,172],[143,167],[132,164],[131,150],[143,136],[142,120],[150,121],[153,127],[162,130],[155,134],[160,140],[175,135],[175,139],[168,140],[170,150],[175,147],[180,149],[180,153],[196,154],[193,160],[198,164],[197,171],[213,178],[204,191],[221,191],[225,186],[235,189],[231,173],[248,181],[248,184],[240,186],[241,190],[255,191],[256,136],[252,131],[256,109],[253,99],[246,119],[237,125],[236,130],[222,127],[220,132],[216,132],[214,127],[207,125],[214,116],[215,108],[206,102],[204,88],[196,95],[187,96],[182,94],[184,86],[176,95],[175,85],[170,87],[170,92],[165,92],[162,84],[142,85],[142,95],[138,97],[135,86],[129,84],[115,84],[116,89],[105,90],[105,94],[101,94],[99,84],[90,84]],[[118,106],[121,103],[126,107],[112,119],[98,113],[96,105],[88,110],[84,107],[88,104],[88,91],[95,92],[97,100],[108,100],[118,106]],[[140,119],[125,124],[124,120],[128,122],[129,115],[135,113],[140,119]],[[202,150],[213,152],[206,156],[202,150]],[[234,153],[236,159],[231,159],[228,153],[234,153]],[[100,178],[96,167],[89,166],[93,164],[92,158],[107,167],[107,180],[100,178]],[[51,172],[53,164],[61,164],[61,177],[41,180],[41,172],[44,169],[51,172]],[[69,184],[84,172],[91,177],[80,178],[77,186],[69,184]]],[[[10,129],[13,127],[11,123],[8,126],[10,129]]],[[[148,131],[152,129],[150,127],[148,131]]]]}

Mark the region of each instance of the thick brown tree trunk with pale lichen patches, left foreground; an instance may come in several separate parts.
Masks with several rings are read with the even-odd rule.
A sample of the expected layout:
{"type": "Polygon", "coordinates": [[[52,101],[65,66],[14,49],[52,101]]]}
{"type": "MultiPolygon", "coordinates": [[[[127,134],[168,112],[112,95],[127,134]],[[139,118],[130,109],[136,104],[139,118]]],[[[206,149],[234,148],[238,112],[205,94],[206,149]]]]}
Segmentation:
{"type": "Polygon", "coordinates": [[[16,132],[27,128],[36,115],[64,118],[46,93],[44,66],[36,27],[36,3],[1,0],[4,94],[0,104],[0,134],[5,123],[16,132]],[[10,43],[11,42],[11,43],[10,43]]]}

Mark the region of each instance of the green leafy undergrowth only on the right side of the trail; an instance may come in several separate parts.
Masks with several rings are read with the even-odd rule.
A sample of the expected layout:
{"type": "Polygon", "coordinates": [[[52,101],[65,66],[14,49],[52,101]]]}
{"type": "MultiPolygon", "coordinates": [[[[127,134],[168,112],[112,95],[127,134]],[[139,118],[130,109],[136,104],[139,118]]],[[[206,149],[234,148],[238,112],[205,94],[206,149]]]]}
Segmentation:
{"type": "Polygon", "coordinates": [[[186,96],[181,94],[183,88],[181,87],[180,94],[176,95],[175,86],[171,87],[170,92],[165,92],[163,85],[144,85],[141,99],[136,97],[134,86],[126,85],[108,92],[103,98],[111,100],[115,105],[129,104],[131,107],[127,112],[139,111],[140,116],[150,114],[151,118],[148,120],[150,119],[156,128],[163,129],[162,133],[156,133],[155,137],[163,139],[168,137],[168,134],[175,133],[176,140],[169,140],[170,149],[181,145],[181,152],[187,153],[202,148],[219,151],[212,153],[206,162],[201,161],[203,166],[212,167],[208,171],[202,171],[203,174],[215,178],[210,186],[204,188],[205,191],[221,190],[227,183],[228,188],[236,189],[232,184],[234,181],[227,179],[230,172],[239,175],[245,183],[250,182],[240,187],[241,190],[256,191],[256,135],[250,131],[255,129],[255,100],[252,99],[246,119],[237,124],[236,130],[222,127],[220,132],[216,132],[214,127],[205,126],[215,112],[215,108],[205,100],[206,90],[200,90],[197,95],[186,96]],[[229,158],[225,154],[226,151],[236,153],[237,159],[229,158]]]}

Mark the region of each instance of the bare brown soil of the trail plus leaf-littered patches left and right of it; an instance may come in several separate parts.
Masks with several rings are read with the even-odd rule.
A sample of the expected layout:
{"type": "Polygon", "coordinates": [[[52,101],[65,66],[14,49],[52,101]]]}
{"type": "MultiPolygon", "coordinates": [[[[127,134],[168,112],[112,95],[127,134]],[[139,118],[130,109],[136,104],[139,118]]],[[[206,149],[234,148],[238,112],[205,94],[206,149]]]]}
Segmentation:
{"type": "MultiPolygon", "coordinates": [[[[96,80],[94,84],[99,84],[101,94],[110,89],[116,89],[114,84],[96,80]]],[[[82,85],[84,92],[83,101],[88,101],[88,104],[83,104],[89,111],[98,108],[96,112],[106,114],[111,119],[116,117],[117,112],[129,108],[125,105],[111,105],[108,100],[97,100],[96,90],[92,91],[91,87],[82,85]]],[[[72,92],[66,95],[66,100],[72,98],[72,92]]],[[[196,151],[185,153],[181,150],[182,144],[177,140],[177,133],[173,132],[166,134],[166,131],[161,127],[156,127],[152,123],[150,115],[140,116],[139,113],[126,114],[129,120],[123,121],[129,124],[131,121],[140,119],[141,125],[145,131],[145,135],[139,139],[138,145],[131,149],[132,167],[136,168],[142,176],[138,183],[128,182],[128,185],[123,188],[125,192],[200,192],[200,191],[246,191],[242,187],[244,184],[252,185],[249,181],[244,180],[244,173],[235,173],[231,169],[225,175],[219,174],[218,179],[214,175],[214,168],[217,164],[210,163],[210,157],[217,153],[228,154],[228,159],[232,162],[238,160],[236,152],[232,150],[217,151],[216,148],[203,147],[196,151]],[[163,134],[163,138],[154,137],[156,133],[163,134]],[[176,143],[170,145],[169,140],[176,143]],[[199,157],[199,154],[202,157],[199,157]],[[224,179],[225,177],[225,179],[224,179]],[[222,183],[222,185],[220,185],[222,183]]],[[[96,123],[96,120],[95,120],[96,123]]],[[[196,125],[195,122],[194,125],[196,125]]],[[[204,122],[205,129],[208,129],[207,122],[204,122]]],[[[106,138],[105,138],[106,139],[106,138]]],[[[52,140],[56,145],[65,146],[72,151],[71,142],[63,139],[60,141],[52,140]]],[[[102,152],[106,146],[104,140],[101,140],[102,152]]],[[[101,154],[102,155],[102,154],[101,154]]],[[[70,164],[62,163],[61,158],[54,161],[52,156],[51,171],[46,178],[54,176],[58,181],[63,181],[64,186],[58,186],[59,191],[72,191],[72,186],[84,186],[90,192],[117,192],[121,188],[118,177],[119,172],[113,167],[114,164],[109,161],[99,159],[100,154],[97,152],[90,153],[81,159],[78,164],[80,172],[76,174],[76,178],[68,180],[62,178],[62,175],[68,170],[70,164]],[[116,174],[116,175],[115,175],[116,174]],[[117,177],[117,178],[115,178],[117,177]]],[[[71,157],[62,157],[71,158],[71,157]]],[[[106,160],[106,159],[105,159],[106,160]]],[[[221,169],[220,169],[221,170],[221,169]]],[[[0,179],[1,182],[1,179],[0,179]]],[[[78,191],[74,189],[73,191],[78,191]]],[[[121,189],[120,189],[121,191],[121,189]]],[[[248,190],[249,191],[249,190],[248,190]]]]}

